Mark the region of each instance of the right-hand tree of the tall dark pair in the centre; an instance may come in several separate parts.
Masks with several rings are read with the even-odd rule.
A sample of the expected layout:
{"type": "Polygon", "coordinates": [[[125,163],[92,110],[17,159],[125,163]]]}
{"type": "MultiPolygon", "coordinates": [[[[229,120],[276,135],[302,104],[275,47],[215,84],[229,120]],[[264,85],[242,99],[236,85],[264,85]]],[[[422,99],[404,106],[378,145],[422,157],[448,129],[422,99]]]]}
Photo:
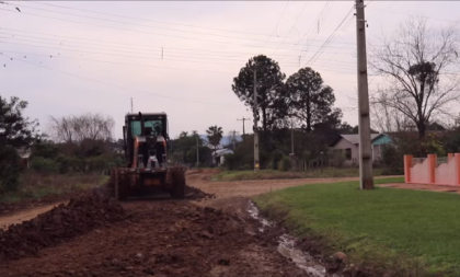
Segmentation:
{"type": "Polygon", "coordinates": [[[311,68],[302,68],[286,81],[289,97],[289,114],[302,128],[311,132],[317,126],[336,128],[341,124],[342,111],[333,108],[335,102],[331,86],[323,84],[321,74],[311,68]]]}

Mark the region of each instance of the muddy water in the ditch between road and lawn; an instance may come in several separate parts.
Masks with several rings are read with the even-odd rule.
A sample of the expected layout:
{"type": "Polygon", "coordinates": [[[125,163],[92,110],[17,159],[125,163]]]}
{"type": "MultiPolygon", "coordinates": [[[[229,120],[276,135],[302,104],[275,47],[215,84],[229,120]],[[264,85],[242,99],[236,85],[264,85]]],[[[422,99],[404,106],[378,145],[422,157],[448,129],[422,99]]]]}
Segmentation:
{"type": "MultiPolygon", "coordinates": [[[[262,223],[262,227],[258,229],[261,232],[264,231],[266,227],[273,224],[265,218],[260,216],[257,207],[254,203],[250,201],[248,211],[252,218],[258,220],[262,223]]],[[[299,249],[296,249],[296,239],[287,233],[283,234],[278,239],[278,252],[286,258],[292,259],[292,262],[299,267],[302,268],[309,276],[313,277],[341,277],[341,275],[330,275],[326,273],[326,269],[321,264],[317,263],[313,257],[299,249]]]]}

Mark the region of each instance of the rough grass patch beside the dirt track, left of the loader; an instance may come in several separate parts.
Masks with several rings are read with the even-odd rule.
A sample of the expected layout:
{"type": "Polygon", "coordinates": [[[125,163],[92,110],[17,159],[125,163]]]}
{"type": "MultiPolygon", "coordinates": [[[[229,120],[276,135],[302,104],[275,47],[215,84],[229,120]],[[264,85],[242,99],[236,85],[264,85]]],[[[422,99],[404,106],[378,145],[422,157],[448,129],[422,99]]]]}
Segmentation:
{"type": "Polygon", "coordinates": [[[100,186],[108,176],[101,174],[43,175],[27,172],[20,178],[18,191],[0,197],[0,203],[18,203],[24,199],[39,199],[51,195],[64,195],[100,186]]]}

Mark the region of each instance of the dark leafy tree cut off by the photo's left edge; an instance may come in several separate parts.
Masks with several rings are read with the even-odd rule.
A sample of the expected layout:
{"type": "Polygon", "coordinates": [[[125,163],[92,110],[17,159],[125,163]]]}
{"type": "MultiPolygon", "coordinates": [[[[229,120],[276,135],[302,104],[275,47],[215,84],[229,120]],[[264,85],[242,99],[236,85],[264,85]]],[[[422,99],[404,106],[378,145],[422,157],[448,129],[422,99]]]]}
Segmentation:
{"type": "Polygon", "coordinates": [[[0,96],[0,194],[15,191],[19,184],[20,159],[18,150],[28,149],[39,140],[38,122],[24,117],[26,101],[0,96]]]}

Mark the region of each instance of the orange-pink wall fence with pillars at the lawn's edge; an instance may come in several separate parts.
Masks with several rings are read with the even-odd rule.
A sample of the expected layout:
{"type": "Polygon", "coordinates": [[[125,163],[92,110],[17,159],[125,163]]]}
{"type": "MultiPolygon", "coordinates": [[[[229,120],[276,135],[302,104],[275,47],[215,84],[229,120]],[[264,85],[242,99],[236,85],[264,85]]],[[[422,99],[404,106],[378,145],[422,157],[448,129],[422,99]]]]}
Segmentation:
{"type": "Polygon", "coordinates": [[[460,185],[460,153],[438,158],[404,155],[405,183],[433,185],[460,185]]]}

